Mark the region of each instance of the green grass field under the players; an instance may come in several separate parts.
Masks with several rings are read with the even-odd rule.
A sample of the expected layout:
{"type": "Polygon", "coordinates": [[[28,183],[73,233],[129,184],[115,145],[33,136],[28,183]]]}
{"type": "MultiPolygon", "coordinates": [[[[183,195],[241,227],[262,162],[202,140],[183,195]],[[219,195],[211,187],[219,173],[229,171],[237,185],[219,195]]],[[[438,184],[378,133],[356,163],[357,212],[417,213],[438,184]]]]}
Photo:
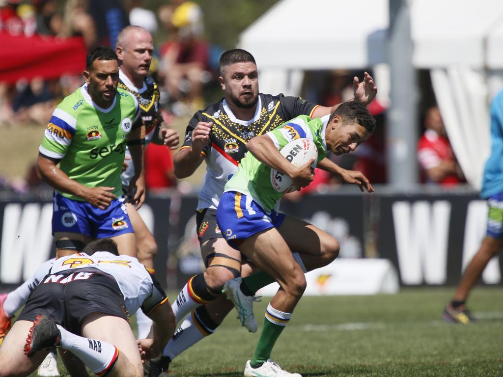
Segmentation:
{"type": "MultiPolygon", "coordinates": [[[[389,296],[304,297],[272,358],[303,376],[502,376],[503,288],[473,291],[478,321],[468,326],[442,322],[452,293],[418,288],[389,296]]],[[[255,306],[259,332],[248,333],[232,312],[214,335],[173,361],[171,374],[242,376],[268,302],[255,306]]]]}

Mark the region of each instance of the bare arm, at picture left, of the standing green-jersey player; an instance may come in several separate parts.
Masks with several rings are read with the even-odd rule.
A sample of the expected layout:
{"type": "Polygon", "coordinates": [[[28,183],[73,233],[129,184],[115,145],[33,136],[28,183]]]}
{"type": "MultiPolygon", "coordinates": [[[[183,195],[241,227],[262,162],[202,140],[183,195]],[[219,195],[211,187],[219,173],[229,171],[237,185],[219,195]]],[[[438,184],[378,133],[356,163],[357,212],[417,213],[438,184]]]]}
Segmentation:
{"type": "Polygon", "coordinates": [[[112,193],[115,190],[114,187],[88,187],[80,184],[68,178],[68,175],[56,166],[56,162],[44,156],[38,156],[37,170],[42,180],[54,189],[83,198],[102,210],[106,209],[114,199],[117,199],[112,193]]]}

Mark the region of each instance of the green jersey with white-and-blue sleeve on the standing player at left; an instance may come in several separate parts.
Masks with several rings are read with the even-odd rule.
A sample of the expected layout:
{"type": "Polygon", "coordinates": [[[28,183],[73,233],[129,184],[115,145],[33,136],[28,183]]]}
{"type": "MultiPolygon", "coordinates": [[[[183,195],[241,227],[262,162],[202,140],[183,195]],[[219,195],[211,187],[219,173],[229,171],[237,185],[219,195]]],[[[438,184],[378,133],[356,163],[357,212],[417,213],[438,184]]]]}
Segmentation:
{"type": "MultiPolygon", "coordinates": [[[[39,153],[73,179],[88,187],[115,187],[122,195],[121,171],[128,136],[139,117],[138,102],[117,89],[108,109],[96,105],[87,84],[57,106],[47,125],[39,153]]],[[[82,198],[61,193],[66,198],[82,198]]]]}

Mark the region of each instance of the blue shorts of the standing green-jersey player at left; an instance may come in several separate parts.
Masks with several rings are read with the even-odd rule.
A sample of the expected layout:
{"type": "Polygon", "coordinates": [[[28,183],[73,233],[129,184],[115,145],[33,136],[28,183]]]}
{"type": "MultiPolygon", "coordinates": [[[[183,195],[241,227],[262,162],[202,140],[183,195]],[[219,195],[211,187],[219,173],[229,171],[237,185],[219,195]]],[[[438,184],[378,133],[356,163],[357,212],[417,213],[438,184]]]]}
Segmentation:
{"type": "Polygon", "coordinates": [[[52,234],[56,232],[79,233],[91,238],[115,237],[133,233],[124,204],[124,197],[115,199],[106,210],[93,207],[55,193],[53,197],[52,234]]]}

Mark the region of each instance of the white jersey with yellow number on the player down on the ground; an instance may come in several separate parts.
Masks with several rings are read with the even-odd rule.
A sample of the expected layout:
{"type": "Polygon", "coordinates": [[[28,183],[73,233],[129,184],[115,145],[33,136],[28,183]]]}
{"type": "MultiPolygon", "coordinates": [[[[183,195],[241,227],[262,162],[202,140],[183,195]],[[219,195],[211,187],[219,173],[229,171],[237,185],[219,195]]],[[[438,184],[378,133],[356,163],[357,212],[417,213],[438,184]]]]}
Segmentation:
{"type": "MultiPolygon", "coordinates": [[[[79,268],[96,268],[115,278],[117,285],[124,295],[126,309],[130,315],[136,313],[148,298],[154,295],[154,282],[145,266],[138,259],[129,255],[114,255],[106,251],[98,251],[93,255],[78,253],[64,256],[54,260],[45,277],[44,282],[57,281],[58,273],[75,269],[72,279],[89,278],[88,275],[78,272],[79,268]],[[88,277],[86,277],[88,276],[88,277]]],[[[65,274],[66,275],[66,274],[65,274]]]]}

